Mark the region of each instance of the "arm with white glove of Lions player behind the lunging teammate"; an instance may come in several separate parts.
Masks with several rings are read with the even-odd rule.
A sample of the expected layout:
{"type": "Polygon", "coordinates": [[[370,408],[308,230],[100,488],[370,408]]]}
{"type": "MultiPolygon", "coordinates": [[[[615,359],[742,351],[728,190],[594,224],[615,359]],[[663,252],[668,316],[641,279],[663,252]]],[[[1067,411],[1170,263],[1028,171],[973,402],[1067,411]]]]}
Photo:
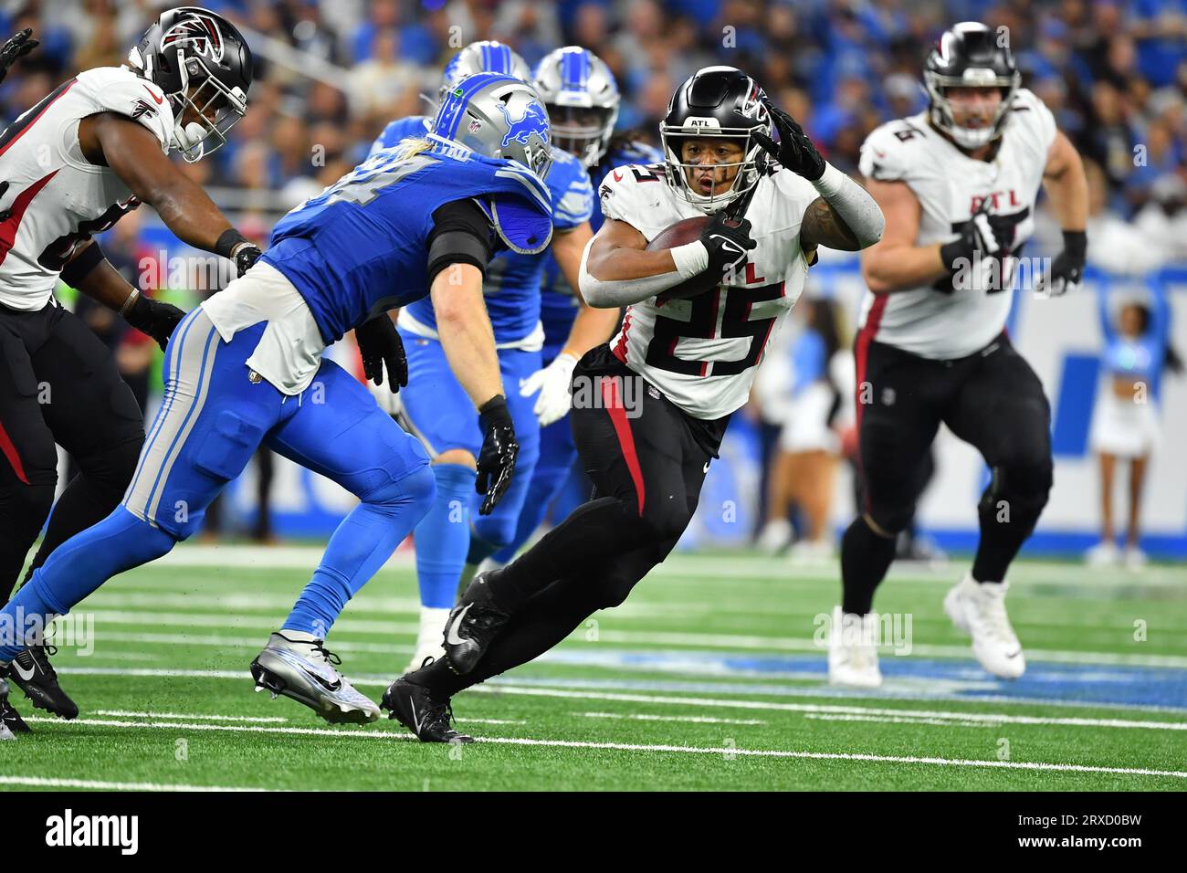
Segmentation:
{"type": "Polygon", "coordinates": [[[579,290],[582,252],[592,238],[589,222],[583,222],[571,230],[553,232],[552,255],[557,259],[565,281],[573,289],[579,309],[569,337],[560,354],[542,369],[529,375],[520,386],[520,396],[531,397],[539,392],[532,411],[546,428],[569,413],[571,405],[569,385],[572,381],[573,367],[582,355],[595,346],[605,342],[618,323],[618,312],[614,309],[595,309],[585,303],[579,290]]]}

